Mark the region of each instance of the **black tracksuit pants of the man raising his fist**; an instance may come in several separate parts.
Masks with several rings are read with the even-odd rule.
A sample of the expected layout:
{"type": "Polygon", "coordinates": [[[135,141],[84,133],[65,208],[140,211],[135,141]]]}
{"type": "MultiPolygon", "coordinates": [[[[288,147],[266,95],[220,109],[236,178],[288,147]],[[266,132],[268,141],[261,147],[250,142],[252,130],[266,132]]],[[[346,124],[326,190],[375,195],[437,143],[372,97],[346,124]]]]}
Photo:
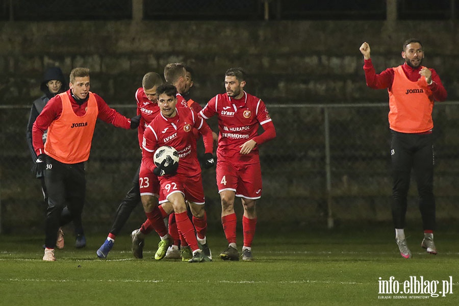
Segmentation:
{"type": "Polygon", "coordinates": [[[413,169],[424,230],[435,230],[433,197],[433,135],[391,131],[392,218],[395,228],[405,227],[407,193],[413,169]]]}

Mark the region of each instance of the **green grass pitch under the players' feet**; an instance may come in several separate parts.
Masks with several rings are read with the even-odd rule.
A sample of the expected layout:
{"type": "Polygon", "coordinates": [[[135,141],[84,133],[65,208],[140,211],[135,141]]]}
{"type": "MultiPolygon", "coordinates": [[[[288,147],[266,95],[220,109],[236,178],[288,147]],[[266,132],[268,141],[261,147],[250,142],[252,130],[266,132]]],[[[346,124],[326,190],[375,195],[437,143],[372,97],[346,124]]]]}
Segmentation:
{"type": "Polygon", "coordinates": [[[87,247],[75,249],[67,234],[56,262],[41,260],[42,235],[0,235],[0,305],[458,305],[458,231],[436,232],[437,256],[420,247],[422,232],[414,232],[406,230],[414,257],[405,260],[390,225],[259,228],[253,262],[224,262],[218,254],[226,241],[216,230],[208,237],[213,262],[194,264],[152,259],[159,241],[153,235],[143,260],[133,259],[129,235],[120,235],[109,258],[100,260],[96,250],[105,236],[89,235],[87,247]],[[399,291],[410,276],[422,276],[431,289],[438,281],[437,293],[452,279],[452,293],[380,294],[379,281],[391,276],[399,291]]]}

